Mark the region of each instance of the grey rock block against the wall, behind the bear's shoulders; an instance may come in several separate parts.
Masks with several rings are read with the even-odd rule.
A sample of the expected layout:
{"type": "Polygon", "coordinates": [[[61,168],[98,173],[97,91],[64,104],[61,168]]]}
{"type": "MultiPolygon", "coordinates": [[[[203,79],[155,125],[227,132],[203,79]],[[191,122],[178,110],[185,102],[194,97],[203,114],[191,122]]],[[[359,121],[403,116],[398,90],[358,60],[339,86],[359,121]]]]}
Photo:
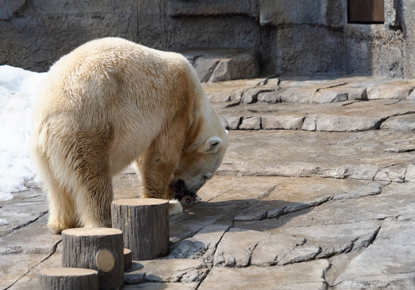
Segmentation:
{"type": "Polygon", "coordinates": [[[201,82],[251,79],[259,75],[257,53],[244,48],[178,50],[192,64],[201,82]]]}

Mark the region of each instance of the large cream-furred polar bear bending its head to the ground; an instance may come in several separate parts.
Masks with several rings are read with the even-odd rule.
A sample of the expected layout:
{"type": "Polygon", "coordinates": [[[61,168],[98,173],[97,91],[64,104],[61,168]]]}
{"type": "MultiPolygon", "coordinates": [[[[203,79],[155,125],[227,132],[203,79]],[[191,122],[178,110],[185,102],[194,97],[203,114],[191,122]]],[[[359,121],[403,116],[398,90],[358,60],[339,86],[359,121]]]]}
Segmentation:
{"type": "MultiPolygon", "coordinates": [[[[48,226],[111,226],[111,176],[135,162],[143,197],[197,192],[228,134],[183,55],[95,39],[50,67],[33,108],[32,156],[48,226]]],[[[171,203],[170,212],[181,212],[171,203]]]]}

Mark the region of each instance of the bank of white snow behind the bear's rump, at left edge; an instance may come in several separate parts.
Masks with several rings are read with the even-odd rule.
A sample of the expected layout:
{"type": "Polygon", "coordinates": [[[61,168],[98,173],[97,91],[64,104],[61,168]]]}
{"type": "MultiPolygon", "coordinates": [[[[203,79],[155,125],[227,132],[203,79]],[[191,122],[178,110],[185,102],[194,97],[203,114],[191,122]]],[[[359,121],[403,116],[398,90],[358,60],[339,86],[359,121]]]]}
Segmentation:
{"type": "MultiPolygon", "coordinates": [[[[35,176],[28,141],[33,98],[45,75],[0,66],[0,201],[12,199],[12,192],[26,189],[25,181],[35,176]]],[[[3,222],[6,221],[0,219],[0,225],[3,222]]]]}

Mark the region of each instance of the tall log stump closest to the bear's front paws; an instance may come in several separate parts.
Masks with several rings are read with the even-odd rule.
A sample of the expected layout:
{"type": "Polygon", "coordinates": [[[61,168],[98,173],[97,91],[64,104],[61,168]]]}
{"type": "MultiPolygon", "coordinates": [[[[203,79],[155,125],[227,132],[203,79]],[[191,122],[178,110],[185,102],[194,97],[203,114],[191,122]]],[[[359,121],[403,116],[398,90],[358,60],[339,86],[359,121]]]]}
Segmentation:
{"type": "Polygon", "coordinates": [[[122,230],[124,248],[133,260],[151,260],[169,253],[169,201],[118,199],[111,203],[112,227],[122,230]]]}

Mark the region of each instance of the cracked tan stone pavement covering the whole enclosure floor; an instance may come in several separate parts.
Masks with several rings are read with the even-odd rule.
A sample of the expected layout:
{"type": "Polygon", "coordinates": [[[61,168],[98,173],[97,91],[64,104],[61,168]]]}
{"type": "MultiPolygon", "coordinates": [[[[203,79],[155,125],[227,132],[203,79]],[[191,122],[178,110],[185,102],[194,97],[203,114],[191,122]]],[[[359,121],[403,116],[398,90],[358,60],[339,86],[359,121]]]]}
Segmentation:
{"type": "MultiPolygon", "coordinates": [[[[170,219],[170,253],[125,289],[415,289],[415,82],[376,77],[205,83],[230,147],[203,201],[170,219]]],[[[0,203],[0,288],[60,266],[44,193],[0,203]]],[[[116,198],[138,197],[127,168],[116,198]]]]}

